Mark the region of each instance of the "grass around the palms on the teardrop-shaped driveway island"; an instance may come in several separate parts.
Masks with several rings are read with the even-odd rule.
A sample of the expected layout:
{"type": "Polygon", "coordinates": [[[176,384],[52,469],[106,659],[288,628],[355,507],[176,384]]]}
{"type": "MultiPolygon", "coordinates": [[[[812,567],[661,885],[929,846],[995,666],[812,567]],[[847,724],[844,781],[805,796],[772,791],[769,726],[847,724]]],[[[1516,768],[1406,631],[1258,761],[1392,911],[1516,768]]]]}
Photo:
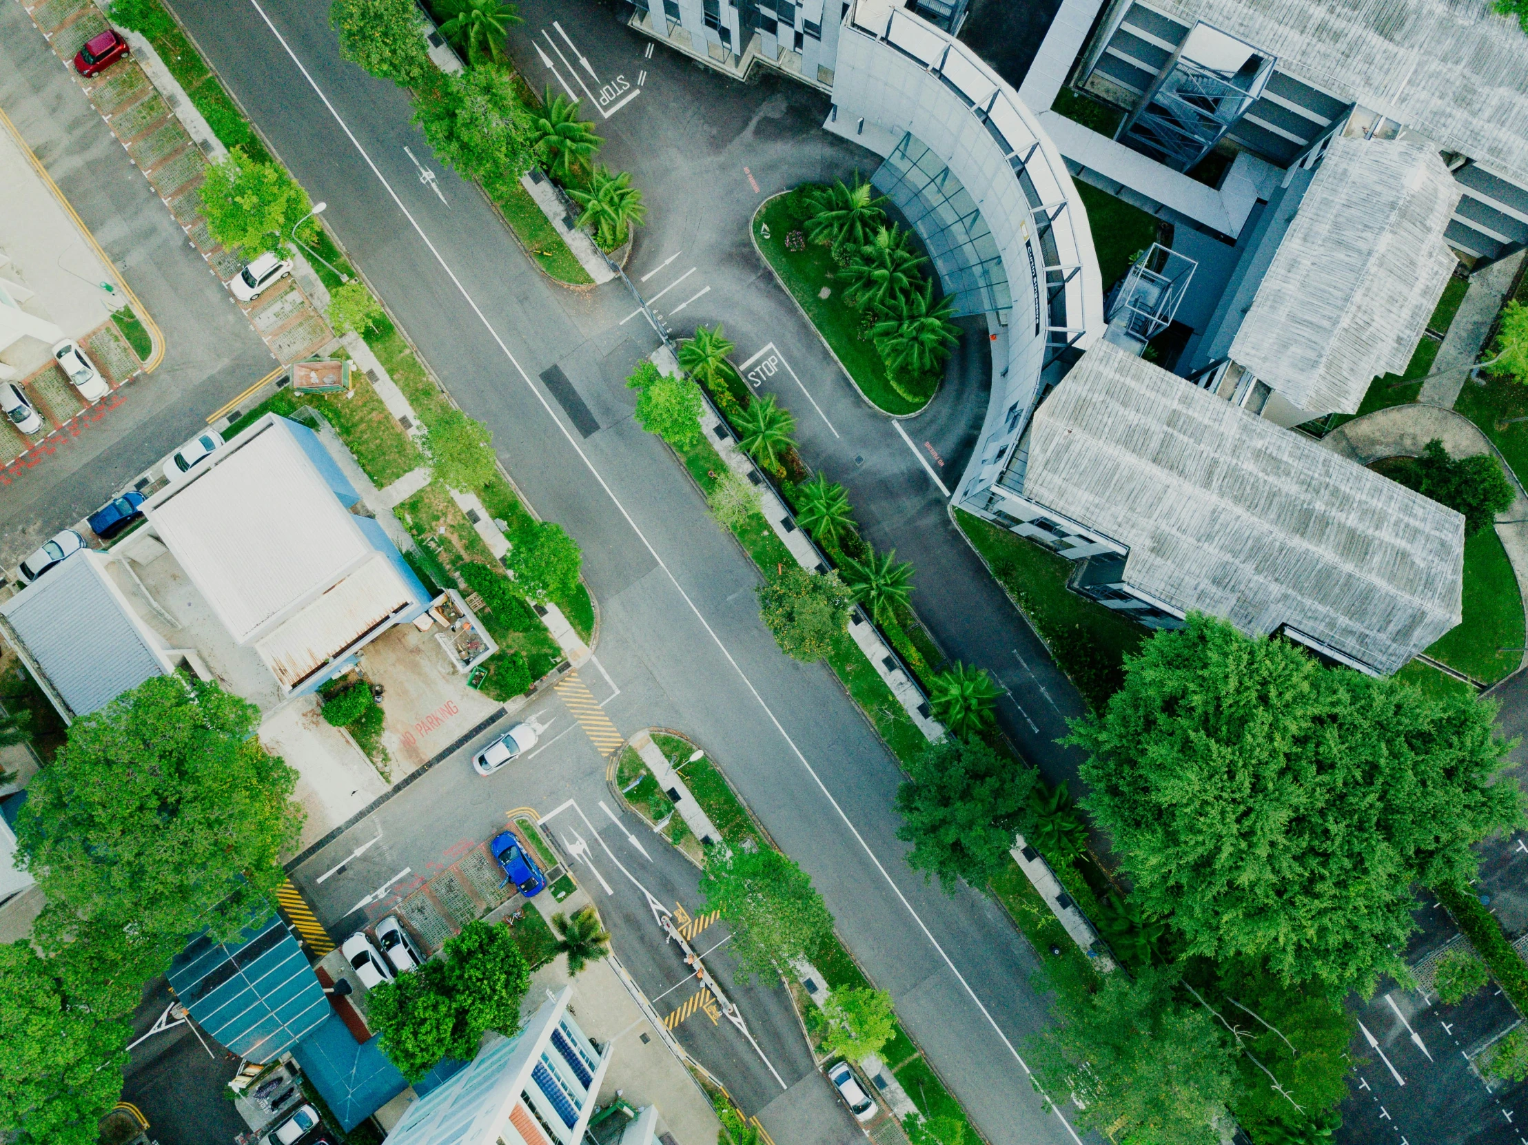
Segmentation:
{"type": "Polygon", "coordinates": [[[880,351],[868,339],[860,337],[862,314],[847,301],[834,275],[837,266],[827,247],[808,243],[805,250],[787,250],[785,237],[792,231],[801,229],[802,191],[792,191],[776,195],[764,209],[753,217],[753,238],[764,252],[764,258],[775,267],[781,282],[796,298],[801,308],[807,311],[817,333],[833,347],[839,362],[850,371],[854,383],[876,406],[888,414],[915,414],[923,409],[938,379],[927,386],[927,392],[917,394],[917,398],[905,397],[892,388],[886,377],[886,365],[880,360],[880,351]],[[762,226],[769,224],[770,237],[764,238],[762,226]],[[827,289],[828,298],[821,292],[827,289]]]}

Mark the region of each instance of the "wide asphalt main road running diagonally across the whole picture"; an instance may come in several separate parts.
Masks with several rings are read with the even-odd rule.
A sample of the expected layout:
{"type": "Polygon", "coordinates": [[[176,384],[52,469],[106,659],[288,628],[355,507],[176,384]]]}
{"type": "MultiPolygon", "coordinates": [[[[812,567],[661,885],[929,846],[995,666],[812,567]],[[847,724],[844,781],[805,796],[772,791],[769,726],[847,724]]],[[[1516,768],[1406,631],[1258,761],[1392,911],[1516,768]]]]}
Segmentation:
{"type": "MultiPolygon", "coordinates": [[[[550,287],[478,192],[428,159],[405,95],[338,58],[322,6],[179,0],[174,9],[275,151],[329,202],[325,220],[356,266],[452,395],[494,431],[530,501],[582,545],[602,608],[601,660],[617,681],[636,675],[628,666],[652,678],[640,724],[685,728],[729,760],[743,795],[813,876],[850,948],[992,1140],[1071,1140],[1015,1050],[1045,1023],[1028,986],[1033,951],[992,901],[947,896],[905,866],[895,762],[827,669],[779,653],[758,620],[755,569],[666,447],[631,421],[623,379],[654,339],[637,322],[622,325],[630,298],[614,285],[550,287]],[[405,147],[431,163],[445,202],[419,182],[405,147]],[[597,420],[588,437],[535,380],[553,365],[597,420]],[[619,660],[614,649],[625,649],[619,660]]],[[[628,38],[626,70],[637,70],[643,47],[628,38]]],[[[692,72],[662,55],[642,66],[648,89],[626,110],[692,72]]],[[[796,98],[779,82],[736,90],[761,104],[796,98]]],[[[785,165],[821,140],[813,128],[761,147],[785,165]]],[[[697,290],[709,281],[700,270],[695,279],[697,290]]]]}

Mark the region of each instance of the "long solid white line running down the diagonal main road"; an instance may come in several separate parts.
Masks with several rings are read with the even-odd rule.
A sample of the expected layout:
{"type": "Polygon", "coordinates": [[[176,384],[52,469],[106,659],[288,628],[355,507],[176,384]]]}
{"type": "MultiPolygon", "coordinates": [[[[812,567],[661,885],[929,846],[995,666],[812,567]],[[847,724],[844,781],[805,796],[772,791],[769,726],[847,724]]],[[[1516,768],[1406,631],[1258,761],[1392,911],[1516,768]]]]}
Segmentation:
{"type": "MultiPolygon", "coordinates": [[[[604,473],[601,473],[599,469],[596,469],[594,463],[590,461],[588,453],[584,452],[584,449],[578,443],[578,438],[573,437],[573,431],[570,431],[562,423],[562,420],[556,415],[556,411],[552,409],[552,403],[547,402],[547,398],[542,397],[541,391],[538,391],[536,386],[532,383],[530,376],[526,373],[524,366],[521,366],[520,360],[513,356],[513,353],[510,353],[509,345],[504,342],[503,337],[500,337],[498,331],[494,328],[494,324],[487,321],[487,314],[483,313],[483,308],[478,307],[478,304],[472,298],[472,295],[468,293],[468,289],[461,284],[461,279],[457,278],[457,273],[451,269],[451,264],[446,263],[445,256],[442,256],[442,253],[435,247],[435,244],[432,241],[429,241],[429,235],[425,234],[423,227],[414,218],[413,212],[410,212],[410,209],[403,205],[403,200],[399,198],[397,191],[393,189],[393,185],[387,180],[387,176],[382,174],[382,171],[373,162],[373,159],[367,153],[367,150],[364,147],[361,147],[361,140],[356,139],[354,133],[350,130],[350,125],[344,121],[344,118],[339,114],[339,111],[335,108],[335,105],[329,101],[329,96],[324,95],[324,90],[318,85],[318,81],[313,79],[312,73],[307,70],[307,67],[303,64],[303,61],[298,60],[296,52],[292,50],[292,46],[287,43],[286,37],[283,37],[281,32],[277,29],[277,26],[270,21],[270,17],[266,14],[266,9],[260,6],[260,0],[249,0],[249,3],[260,14],[260,18],[264,20],[266,27],[270,29],[270,35],[274,35],[277,38],[277,43],[281,44],[283,50],[292,58],[292,63],[296,64],[296,69],[303,73],[303,78],[307,79],[309,85],[313,89],[313,92],[318,95],[318,98],[321,101],[324,101],[324,107],[329,108],[329,113],[335,118],[335,122],[339,124],[339,128],[345,133],[345,137],[350,139],[351,145],[356,148],[356,151],[365,160],[367,166],[371,168],[371,174],[374,174],[377,177],[377,182],[382,183],[384,189],[388,192],[388,197],[397,205],[397,209],[408,220],[410,226],[419,235],[420,241],[429,249],[429,253],[434,255],[435,261],[440,264],[440,269],[446,272],[446,276],[451,279],[451,282],[461,293],[463,301],[466,301],[466,304],[472,308],[472,313],[477,314],[478,321],[483,324],[483,328],[487,330],[489,336],[494,339],[494,342],[498,345],[498,348],[504,353],[504,357],[507,357],[509,362],[510,362],[510,365],[515,366],[515,371],[520,374],[521,380],[524,380],[524,383],[526,383],[526,389],[529,389],[535,395],[535,398],[541,403],[541,408],[547,411],[547,417],[552,418],[553,424],[556,424],[556,427],[562,432],[564,440],[568,443],[568,449],[571,449],[575,453],[578,453],[578,456],[584,463],[585,469],[588,469],[590,476],[593,476],[594,481],[599,482],[599,487],[605,492],[605,496],[610,498],[611,504],[616,507],[616,511],[620,513],[620,516],[625,519],[625,522],[631,527],[631,531],[636,533],[636,536],[637,536],[639,540],[642,540],[642,545],[652,556],[652,560],[657,563],[657,566],[663,569],[663,574],[668,577],[669,583],[674,585],[674,591],[678,592],[680,598],[685,602],[685,605],[694,614],[695,620],[700,621],[700,626],[703,629],[706,629],[706,635],[711,637],[712,643],[715,643],[715,646],[721,652],[721,655],[726,656],[727,663],[732,666],[732,670],[738,673],[738,679],[743,681],[743,685],[749,690],[749,695],[753,696],[753,701],[759,705],[759,708],[769,718],[770,724],[775,725],[775,731],[779,733],[779,737],[790,748],[792,754],[796,757],[796,760],[801,763],[801,766],[805,769],[805,772],[811,777],[813,783],[816,783],[817,789],[822,792],[822,797],[828,802],[828,806],[833,808],[833,811],[837,814],[837,817],[843,821],[843,826],[854,837],[854,841],[860,844],[860,849],[865,852],[865,856],[874,864],[876,870],[886,881],[886,885],[891,887],[891,893],[897,896],[897,901],[902,902],[903,908],[908,911],[908,914],[917,924],[917,927],[923,933],[924,939],[927,939],[929,945],[935,950],[935,953],[938,953],[940,960],[946,966],[949,966],[950,974],[955,976],[955,980],[966,991],[966,995],[972,1000],[972,1003],[981,1012],[983,1018],[987,1020],[987,1024],[992,1026],[992,1030],[993,1030],[993,1034],[998,1035],[998,1040],[1002,1041],[1002,1044],[1008,1050],[1008,1053],[1013,1055],[1013,1060],[1019,1063],[1019,1066],[1024,1069],[1024,1072],[1027,1075],[1030,1075],[1031,1070],[1030,1070],[1028,1064],[1024,1061],[1024,1058],[1019,1055],[1019,1050],[1008,1040],[1008,1035],[1002,1032],[1002,1027],[998,1024],[998,1020],[992,1017],[992,1011],[987,1009],[987,1006],[976,995],[976,991],[972,989],[970,982],[967,982],[966,976],[960,972],[960,968],[955,965],[955,962],[950,959],[950,956],[944,951],[944,947],[940,945],[940,940],[937,937],[934,937],[934,931],[929,930],[929,925],[923,921],[923,916],[918,914],[917,910],[914,910],[912,904],[908,901],[908,896],[902,893],[902,887],[898,887],[897,881],[894,878],[891,878],[891,872],[886,870],[885,864],[880,861],[880,856],[876,855],[874,850],[871,850],[869,843],[865,841],[865,837],[859,832],[859,827],[854,826],[854,821],[843,811],[843,806],[833,797],[833,792],[828,791],[828,786],[827,786],[827,783],[822,782],[822,777],[817,774],[817,769],[811,766],[811,763],[802,754],[801,748],[796,745],[796,740],[792,739],[792,736],[790,736],[788,731],[785,731],[785,725],[779,722],[779,716],[775,714],[775,710],[769,705],[769,702],[764,699],[764,696],[759,693],[759,690],[753,685],[753,681],[749,679],[749,675],[743,670],[743,666],[738,664],[738,661],[732,655],[732,650],[727,649],[727,646],[723,643],[721,637],[717,635],[717,631],[711,626],[711,621],[706,620],[704,614],[700,611],[700,608],[691,598],[689,592],[685,591],[685,586],[678,583],[678,577],[674,576],[674,571],[668,566],[668,562],[665,562],[663,557],[659,556],[659,551],[652,547],[652,542],[648,540],[646,533],[642,531],[642,528],[633,519],[631,513],[620,502],[620,498],[616,496],[616,490],[613,490],[610,487],[610,482],[605,481],[604,473]]],[[[575,808],[575,811],[579,811],[576,803],[573,805],[573,808],[575,808]]],[[[561,811],[561,808],[559,808],[559,811],[561,811]]],[[[553,814],[556,814],[556,812],[553,812],[553,814]]],[[[579,815],[582,817],[584,812],[579,811],[579,815]]],[[[588,823],[587,818],[584,821],[588,823]]],[[[593,827],[590,827],[590,831],[593,831],[593,827]]],[[[601,840],[601,846],[604,846],[604,840],[601,840]]],[[[610,852],[608,847],[605,847],[605,850],[607,850],[607,853],[610,852]]],[[[614,861],[614,855],[611,855],[611,860],[614,861]]],[[[617,863],[617,866],[619,866],[619,863],[617,863]]],[[[636,882],[636,879],[633,879],[633,882],[636,882]]],[[[1039,1092],[1041,1092],[1041,1096],[1044,1096],[1044,1090],[1039,1090],[1039,1092]]],[[[1060,1108],[1056,1105],[1056,1102],[1050,1101],[1050,1098],[1045,1098],[1045,1101],[1051,1107],[1051,1111],[1056,1114],[1056,1118],[1060,1121],[1060,1124],[1067,1127],[1067,1133],[1071,1134],[1071,1139],[1074,1142],[1077,1142],[1077,1145],[1082,1145],[1082,1137],[1077,1136],[1077,1131],[1071,1127],[1071,1122],[1067,1121],[1067,1118],[1062,1116],[1060,1108]]]]}

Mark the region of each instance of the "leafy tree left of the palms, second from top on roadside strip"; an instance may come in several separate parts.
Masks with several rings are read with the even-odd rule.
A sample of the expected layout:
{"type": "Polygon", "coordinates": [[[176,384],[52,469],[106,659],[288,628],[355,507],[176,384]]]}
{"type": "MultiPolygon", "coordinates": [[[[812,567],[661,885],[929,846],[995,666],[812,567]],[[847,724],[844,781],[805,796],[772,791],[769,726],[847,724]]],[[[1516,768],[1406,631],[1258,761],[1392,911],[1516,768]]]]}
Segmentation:
{"type": "Polygon", "coordinates": [[[419,124],[440,160],[468,179],[518,179],[533,162],[532,118],[500,67],[442,75],[414,93],[419,124]]]}

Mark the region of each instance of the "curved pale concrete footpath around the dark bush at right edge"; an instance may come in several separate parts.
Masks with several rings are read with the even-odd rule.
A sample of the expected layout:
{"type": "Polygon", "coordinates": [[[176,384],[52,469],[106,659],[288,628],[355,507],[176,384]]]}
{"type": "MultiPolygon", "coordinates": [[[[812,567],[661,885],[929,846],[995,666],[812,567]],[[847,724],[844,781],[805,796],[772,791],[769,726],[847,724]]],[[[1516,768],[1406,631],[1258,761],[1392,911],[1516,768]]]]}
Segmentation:
{"type": "MultiPolygon", "coordinates": [[[[1470,289],[1475,290],[1473,285],[1470,289]]],[[[1465,302],[1468,302],[1468,296],[1465,302]]],[[[1459,313],[1462,318],[1462,308],[1459,313]]],[[[1458,327],[1458,321],[1455,327],[1458,327]]],[[[1390,406],[1357,417],[1334,429],[1322,438],[1322,447],[1342,453],[1360,466],[1368,466],[1386,456],[1421,456],[1423,449],[1433,440],[1442,441],[1449,455],[1456,458],[1491,453],[1502,464],[1507,479],[1513,482],[1513,504],[1496,514],[1496,536],[1500,537],[1507,559],[1513,565],[1517,592],[1523,598],[1525,621],[1528,621],[1528,496],[1523,495],[1522,482],[1517,481],[1513,467],[1507,464],[1507,458],[1481,432],[1479,426],[1462,414],[1439,406],[1390,406]]],[[[1523,655],[1522,666],[1528,666],[1528,653],[1523,655]]]]}

